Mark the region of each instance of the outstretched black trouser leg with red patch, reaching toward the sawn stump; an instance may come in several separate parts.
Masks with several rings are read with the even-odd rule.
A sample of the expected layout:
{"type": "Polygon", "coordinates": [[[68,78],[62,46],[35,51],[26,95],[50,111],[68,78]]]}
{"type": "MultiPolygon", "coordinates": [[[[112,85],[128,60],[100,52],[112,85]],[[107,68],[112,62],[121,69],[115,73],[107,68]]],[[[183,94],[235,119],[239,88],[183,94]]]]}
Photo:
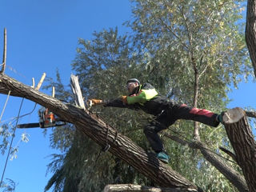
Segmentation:
{"type": "Polygon", "coordinates": [[[176,119],[194,120],[202,122],[208,126],[218,126],[219,122],[216,120],[218,114],[214,114],[210,110],[198,109],[186,105],[175,105],[172,113],[176,119]]]}

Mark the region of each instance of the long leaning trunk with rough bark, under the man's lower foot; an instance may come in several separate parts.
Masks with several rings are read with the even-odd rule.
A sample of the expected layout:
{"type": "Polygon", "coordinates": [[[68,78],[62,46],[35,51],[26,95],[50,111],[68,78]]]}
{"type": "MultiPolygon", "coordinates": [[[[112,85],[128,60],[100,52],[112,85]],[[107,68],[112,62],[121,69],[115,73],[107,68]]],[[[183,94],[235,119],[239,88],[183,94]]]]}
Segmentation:
{"type": "Polygon", "coordinates": [[[133,166],[140,173],[152,179],[158,186],[182,188],[187,191],[199,191],[197,186],[183,178],[180,174],[155,158],[154,154],[146,154],[130,138],[118,134],[110,125],[94,114],[70,104],[64,104],[57,98],[42,94],[30,86],[23,85],[13,78],[0,74],[0,93],[27,98],[49,108],[54,114],[66,122],[73,123],[78,130],[105,147],[110,145],[110,153],[133,166]],[[1,92],[2,91],[2,92],[1,92]]]}

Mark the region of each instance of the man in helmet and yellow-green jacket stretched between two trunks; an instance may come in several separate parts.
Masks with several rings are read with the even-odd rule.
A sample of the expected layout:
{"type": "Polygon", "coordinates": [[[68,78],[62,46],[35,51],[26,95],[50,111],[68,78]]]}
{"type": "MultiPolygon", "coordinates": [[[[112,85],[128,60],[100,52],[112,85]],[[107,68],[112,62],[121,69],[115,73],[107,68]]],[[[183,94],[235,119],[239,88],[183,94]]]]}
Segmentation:
{"type": "Polygon", "coordinates": [[[144,134],[146,134],[146,138],[157,158],[162,162],[168,163],[170,157],[166,154],[158,136],[159,131],[167,129],[178,119],[194,120],[214,127],[222,122],[222,114],[214,114],[210,110],[178,104],[158,94],[158,91],[150,83],[141,85],[137,78],[130,78],[126,82],[126,88],[129,92],[128,96],[122,96],[107,102],[90,99],[90,102],[93,105],[104,104],[103,106],[123,107],[132,110],[141,109],[147,114],[153,114],[155,118],[144,127],[144,134]]]}

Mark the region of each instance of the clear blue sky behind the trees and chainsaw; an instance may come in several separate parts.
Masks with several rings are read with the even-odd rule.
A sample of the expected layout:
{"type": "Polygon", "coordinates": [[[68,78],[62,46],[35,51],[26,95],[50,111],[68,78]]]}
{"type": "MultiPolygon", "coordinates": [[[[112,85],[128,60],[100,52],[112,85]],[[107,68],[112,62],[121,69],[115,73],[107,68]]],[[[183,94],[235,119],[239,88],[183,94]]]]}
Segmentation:
{"type": "MultiPolygon", "coordinates": [[[[54,77],[58,68],[62,81],[70,81],[70,63],[75,57],[78,38],[90,39],[94,31],[118,26],[121,33],[128,31],[122,26],[131,18],[128,0],[3,0],[0,6],[0,55],[2,56],[3,29],[7,29],[6,74],[30,85],[31,78],[37,83],[42,73],[54,77]]],[[[0,58],[2,62],[2,57],[0,58]]],[[[45,90],[42,90],[45,91],[45,90]]],[[[238,90],[229,94],[233,102],[229,107],[255,106],[255,84],[242,82],[238,90]]],[[[21,98],[10,98],[2,118],[17,116],[21,98]]],[[[6,95],[0,95],[0,112],[6,95]]],[[[22,114],[33,109],[34,103],[25,101],[22,114]]],[[[37,122],[38,108],[20,122],[37,122]]],[[[50,148],[49,132],[42,130],[17,130],[14,146],[21,134],[29,134],[29,142],[19,143],[18,158],[9,161],[4,178],[17,182],[17,192],[43,191],[51,174],[46,176],[50,154],[58,153],[50,148]],[[47,158],[48,157],[48,158],[47,158]]],[[[0,175],[6,155],[0,156],[0,175]]],[[[4,179],[6,181],[6,179],[4,179]]]]}

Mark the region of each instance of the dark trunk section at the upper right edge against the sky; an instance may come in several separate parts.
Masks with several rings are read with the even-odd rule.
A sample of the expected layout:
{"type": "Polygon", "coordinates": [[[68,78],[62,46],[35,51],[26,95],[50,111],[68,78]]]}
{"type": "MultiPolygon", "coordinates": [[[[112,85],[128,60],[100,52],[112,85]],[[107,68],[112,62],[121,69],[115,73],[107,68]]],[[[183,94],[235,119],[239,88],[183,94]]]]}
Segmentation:
{"type": "Polygon", "coordinates": [[[250,52],[250,59],[254,67],[256,77],[256,1],[247,1],[246,12],[246,44],[250,52]]]}

